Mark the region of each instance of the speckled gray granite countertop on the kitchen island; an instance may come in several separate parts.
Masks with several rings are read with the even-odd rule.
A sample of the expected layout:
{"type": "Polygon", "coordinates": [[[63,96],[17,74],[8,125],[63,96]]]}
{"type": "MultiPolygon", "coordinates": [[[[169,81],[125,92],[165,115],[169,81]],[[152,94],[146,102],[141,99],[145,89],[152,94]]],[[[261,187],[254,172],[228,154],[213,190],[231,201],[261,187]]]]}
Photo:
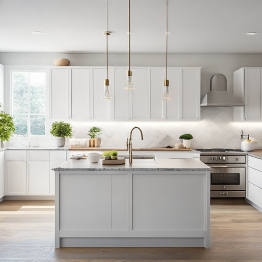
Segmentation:
{"type": "Polygon", "coordinates": [[[90,163],[87,159],[69,159],[54,168],[55,171],[207,171],[210,167],[193,158],[159,158],[157,162],[143,162],[133,160],[129,164],[126,159],[123,165],[102,165],[102,159],[98,163],[90,163]]]}

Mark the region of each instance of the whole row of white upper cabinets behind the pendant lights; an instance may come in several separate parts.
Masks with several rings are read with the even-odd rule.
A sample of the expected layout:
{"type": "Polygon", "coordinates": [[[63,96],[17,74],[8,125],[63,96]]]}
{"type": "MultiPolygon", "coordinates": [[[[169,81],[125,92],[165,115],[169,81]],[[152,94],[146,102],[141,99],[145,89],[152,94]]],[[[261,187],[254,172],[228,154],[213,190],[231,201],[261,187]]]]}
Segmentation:
{"type": "Polygon", "coordinates": [[[163,101],[165,68],[132,68],[135,89],[123,89],[126,68],[109,68],[112,100],[102,100],[104,67],[52,69],[52,119],[198,120],[201,67],[168,69],[172,100],[163,101]]]}

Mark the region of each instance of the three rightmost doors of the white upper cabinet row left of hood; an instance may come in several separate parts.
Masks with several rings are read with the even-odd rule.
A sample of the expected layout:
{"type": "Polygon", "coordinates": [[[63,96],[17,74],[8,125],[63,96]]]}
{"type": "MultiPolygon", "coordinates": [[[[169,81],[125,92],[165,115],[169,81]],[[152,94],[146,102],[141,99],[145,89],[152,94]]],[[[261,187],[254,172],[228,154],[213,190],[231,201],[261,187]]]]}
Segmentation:
{"type": "Polygon", "coordinates": [[[150,119],[200,119],[200,67],[168,69],[172,100],[161,100],[165,69],[150,69],[150,119]]]}

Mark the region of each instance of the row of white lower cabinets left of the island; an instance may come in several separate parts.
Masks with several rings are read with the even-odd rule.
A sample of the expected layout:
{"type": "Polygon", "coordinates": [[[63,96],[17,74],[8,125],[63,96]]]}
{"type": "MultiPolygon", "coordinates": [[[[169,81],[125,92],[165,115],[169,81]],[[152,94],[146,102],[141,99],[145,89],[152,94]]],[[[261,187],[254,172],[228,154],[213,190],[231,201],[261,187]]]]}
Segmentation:
{"type": "MultiPolygon", "coordinates": [[[[66,160],[66,150],[6,150],[5,153],[5,196],[54,196],[55,175],[51,169],[66,160]]],[[[1,168],[1,167],[0,167],[1,168]]],[[[4,171],[3,171],[4,173],[4,171]]],[[[1,184],[0,184],[1,185],[1,184]]]]}

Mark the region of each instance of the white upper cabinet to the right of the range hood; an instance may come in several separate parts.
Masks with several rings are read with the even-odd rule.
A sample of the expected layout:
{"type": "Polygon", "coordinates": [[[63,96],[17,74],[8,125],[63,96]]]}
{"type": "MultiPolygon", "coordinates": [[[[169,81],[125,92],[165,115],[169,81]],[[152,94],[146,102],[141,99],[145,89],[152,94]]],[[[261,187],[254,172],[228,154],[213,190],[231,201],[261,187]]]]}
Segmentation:
{"type": "Polygon", "coordinates": [[[244,107],[234,107],[234,120],[262,120],[262,68],[240,68],[233,74],[234,94],[244,107]]]}

